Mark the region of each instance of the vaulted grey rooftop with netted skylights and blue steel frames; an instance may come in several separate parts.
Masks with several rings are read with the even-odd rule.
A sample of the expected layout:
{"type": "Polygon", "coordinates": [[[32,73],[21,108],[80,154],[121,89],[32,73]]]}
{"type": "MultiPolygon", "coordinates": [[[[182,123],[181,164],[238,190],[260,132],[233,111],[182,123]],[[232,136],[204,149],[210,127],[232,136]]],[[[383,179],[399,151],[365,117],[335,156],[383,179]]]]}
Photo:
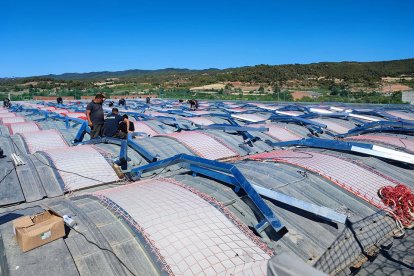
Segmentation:
{"type": "Polygon", "coordinates": [[[379,193],[414,188],[411,106],[127,99],[136,132],[91,140],[86,104],[0,107],[2,274],[413,274],[379,193]],[[44,209],[77,227],[23,253],[12,220],[44,209]]]}

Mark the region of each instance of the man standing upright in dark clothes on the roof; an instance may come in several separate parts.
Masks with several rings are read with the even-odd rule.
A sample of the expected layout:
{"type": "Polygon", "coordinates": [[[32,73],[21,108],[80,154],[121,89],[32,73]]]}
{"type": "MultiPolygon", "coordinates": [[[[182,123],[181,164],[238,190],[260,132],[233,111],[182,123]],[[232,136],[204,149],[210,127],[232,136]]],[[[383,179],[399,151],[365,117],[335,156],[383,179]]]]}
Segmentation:
{"type": "Polygon", "coordinates": [[[86,106],[86,118],[88,118],[88,125],[91,127],[91,139],[101,136],[103,132],[105,119],[102,103],[104,98],[106,98],[104,95],[96,94],[95,99],[86,106]]]}

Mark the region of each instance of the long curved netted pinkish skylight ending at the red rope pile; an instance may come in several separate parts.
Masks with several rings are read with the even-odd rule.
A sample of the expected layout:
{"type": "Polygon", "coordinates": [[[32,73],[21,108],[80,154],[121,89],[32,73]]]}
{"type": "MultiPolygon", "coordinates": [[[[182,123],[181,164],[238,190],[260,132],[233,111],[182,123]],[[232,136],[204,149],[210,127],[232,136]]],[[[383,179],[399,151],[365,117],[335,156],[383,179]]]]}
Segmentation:
{"type": "Polygon", "coordinates": [[[383,208],[384,205],[378,197],[378,190],[384,186],[398,184],[395,180],[372,168],[317,152],[277,150],[257,154],[250,158],[258,160],[272,159],[313,171],[380,208],[383,208]]]}

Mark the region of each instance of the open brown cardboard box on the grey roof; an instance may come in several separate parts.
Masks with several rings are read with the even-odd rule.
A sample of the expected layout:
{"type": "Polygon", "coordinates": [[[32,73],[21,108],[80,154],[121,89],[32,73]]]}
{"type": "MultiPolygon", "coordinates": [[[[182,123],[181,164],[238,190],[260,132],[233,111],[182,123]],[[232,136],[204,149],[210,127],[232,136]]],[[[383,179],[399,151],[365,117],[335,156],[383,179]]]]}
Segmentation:
{"type": "Polygon", "coordinates": [[[63,218],[51,210],[13,221],[13,231],[23,252],[65,236],[63,218]]]}

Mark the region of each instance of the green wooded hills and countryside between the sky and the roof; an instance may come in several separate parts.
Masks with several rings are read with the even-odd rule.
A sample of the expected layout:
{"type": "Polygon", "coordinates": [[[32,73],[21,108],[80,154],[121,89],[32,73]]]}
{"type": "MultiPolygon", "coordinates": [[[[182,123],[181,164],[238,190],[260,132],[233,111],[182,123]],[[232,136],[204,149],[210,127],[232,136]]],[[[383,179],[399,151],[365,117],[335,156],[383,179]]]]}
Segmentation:
{"type": "MultiPolygon", "coordinates": [[[[257,65],[228,69],[126,70],[118,72],[66,73],[28,78],[0,78],[0,96],[12,92],[15,99],[36,95],[75,96],[157,93],[170,98],[230,100],[293,100],[289,91],[322,91],[318,98],[302,101],[398,102],[400,93],[381,94],[383,77],[414,87],[414,59],[383,62],[322,62],[313,64],[257,65]],[[195,92],[191,87],[224,83],[224,88],[195,92]],[[257,86],[242,91],[240,86],[257,86]],[[357,88],[355,88],[357,87],[357,88]]],[[[401,100],[399,100],[401,101],[401,100]]]]}

